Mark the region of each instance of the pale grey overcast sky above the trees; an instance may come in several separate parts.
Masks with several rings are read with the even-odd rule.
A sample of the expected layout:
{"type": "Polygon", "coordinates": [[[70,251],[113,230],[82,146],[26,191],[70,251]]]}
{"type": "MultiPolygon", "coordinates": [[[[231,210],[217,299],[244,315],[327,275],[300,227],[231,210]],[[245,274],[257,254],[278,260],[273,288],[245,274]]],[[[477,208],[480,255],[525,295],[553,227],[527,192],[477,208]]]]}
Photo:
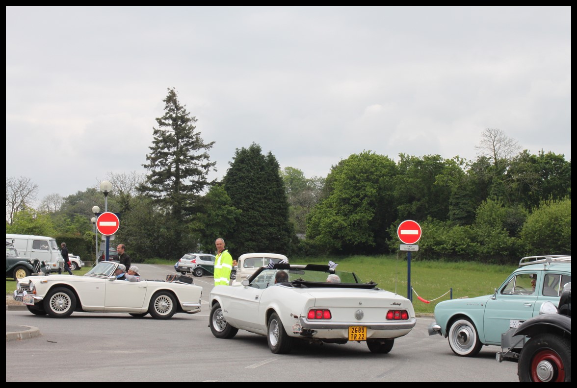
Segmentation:
{"type": "Polygon", "coordinates": [[[571,159],[571,7],[6,7],[6,177],[38,199],[145,172],[175,88],[220,179],[253,142],[474,160],[486,128],[571,159]]]}

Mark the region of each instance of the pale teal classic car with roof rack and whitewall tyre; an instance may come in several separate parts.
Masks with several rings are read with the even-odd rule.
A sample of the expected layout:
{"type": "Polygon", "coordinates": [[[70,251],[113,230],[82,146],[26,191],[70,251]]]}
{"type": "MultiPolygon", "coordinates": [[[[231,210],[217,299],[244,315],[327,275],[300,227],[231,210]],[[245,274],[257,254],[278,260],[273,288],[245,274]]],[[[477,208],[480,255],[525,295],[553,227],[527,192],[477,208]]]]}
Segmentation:
{"type": "Polygon", "coordinates": [[[501,345],[501,334],[539,315],[547,301],[559,303],[563,287],[571,282],[571,256],[524,257],[519,268],[492,295],[440,302],[429,335],[449,338],[458,356],[473,357],[483,345],[501,345]]]}

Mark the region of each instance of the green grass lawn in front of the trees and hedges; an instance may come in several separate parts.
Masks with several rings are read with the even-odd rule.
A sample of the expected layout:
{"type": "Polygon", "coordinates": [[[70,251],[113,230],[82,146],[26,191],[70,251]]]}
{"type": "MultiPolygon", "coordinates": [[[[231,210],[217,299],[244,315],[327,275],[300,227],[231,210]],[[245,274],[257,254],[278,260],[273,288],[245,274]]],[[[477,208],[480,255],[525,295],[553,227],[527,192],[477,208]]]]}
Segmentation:
{"type": "MultiPolygon", "coordinates": [[[[329,260],[338,264],[338,270],[356,273],[362,281],[370,280],[380,288],[408,296],[407,255],[352,256],[347,258],[290,258],[295,264],[327,264],[329,260]]],[[[147,260],[147,264],[174,265],[174,261],[147,260]]],[[[472,262],[427,262],[411,261],[411,287],[415,312],[432,313],[434,306],[442,300],[459,297],[489,295],[499,287],[517,266],[485,265],[472,262]],[[418,296],[430,303],[421,302],[418,296]]],[[[84,275],[90,268],[74,271],[84,275]]],[[[6,278],[6,293],[13,293],[16,281],[6,278]]]]}

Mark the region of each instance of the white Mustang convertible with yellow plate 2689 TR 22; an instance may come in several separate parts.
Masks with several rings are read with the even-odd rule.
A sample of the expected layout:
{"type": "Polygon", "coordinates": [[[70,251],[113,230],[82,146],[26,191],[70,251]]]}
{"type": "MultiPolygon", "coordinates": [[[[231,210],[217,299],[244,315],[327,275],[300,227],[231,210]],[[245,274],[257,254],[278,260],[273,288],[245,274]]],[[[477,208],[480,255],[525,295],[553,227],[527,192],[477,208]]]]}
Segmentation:
{"type": "Polygon", "coordinates": [[[267,336],[273,353],[289,353],[297,339],[363,341],[373,353],[388,353],[395,338],[409,334],[417,323],[406,297],[328,265],[271,262],[242,284],[215,286],[209,303],[215,337],[233,338],[239,329],[246,330],[267,336]],[[275,282],[278,272],[285,272],[284,279],[275,282]],[[327,282],[330,274],[340,282],[327,282]]]}

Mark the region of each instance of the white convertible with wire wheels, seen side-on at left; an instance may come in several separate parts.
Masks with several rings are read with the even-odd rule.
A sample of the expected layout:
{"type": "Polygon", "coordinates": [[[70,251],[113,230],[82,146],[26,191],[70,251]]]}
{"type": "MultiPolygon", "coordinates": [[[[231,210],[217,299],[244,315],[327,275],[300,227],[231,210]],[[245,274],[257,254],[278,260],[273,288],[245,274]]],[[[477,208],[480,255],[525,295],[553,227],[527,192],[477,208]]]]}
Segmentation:
{"type": "Polygon", "coordinates": [[[133,317],[169,319],[200,311],[203,288],[184,281],[117,279],[118,263],[102,261],[84,276],[28,276],[17,281],[14,300],[35,315],[66,318],[73,311],[128,312],[133,317]]]}

